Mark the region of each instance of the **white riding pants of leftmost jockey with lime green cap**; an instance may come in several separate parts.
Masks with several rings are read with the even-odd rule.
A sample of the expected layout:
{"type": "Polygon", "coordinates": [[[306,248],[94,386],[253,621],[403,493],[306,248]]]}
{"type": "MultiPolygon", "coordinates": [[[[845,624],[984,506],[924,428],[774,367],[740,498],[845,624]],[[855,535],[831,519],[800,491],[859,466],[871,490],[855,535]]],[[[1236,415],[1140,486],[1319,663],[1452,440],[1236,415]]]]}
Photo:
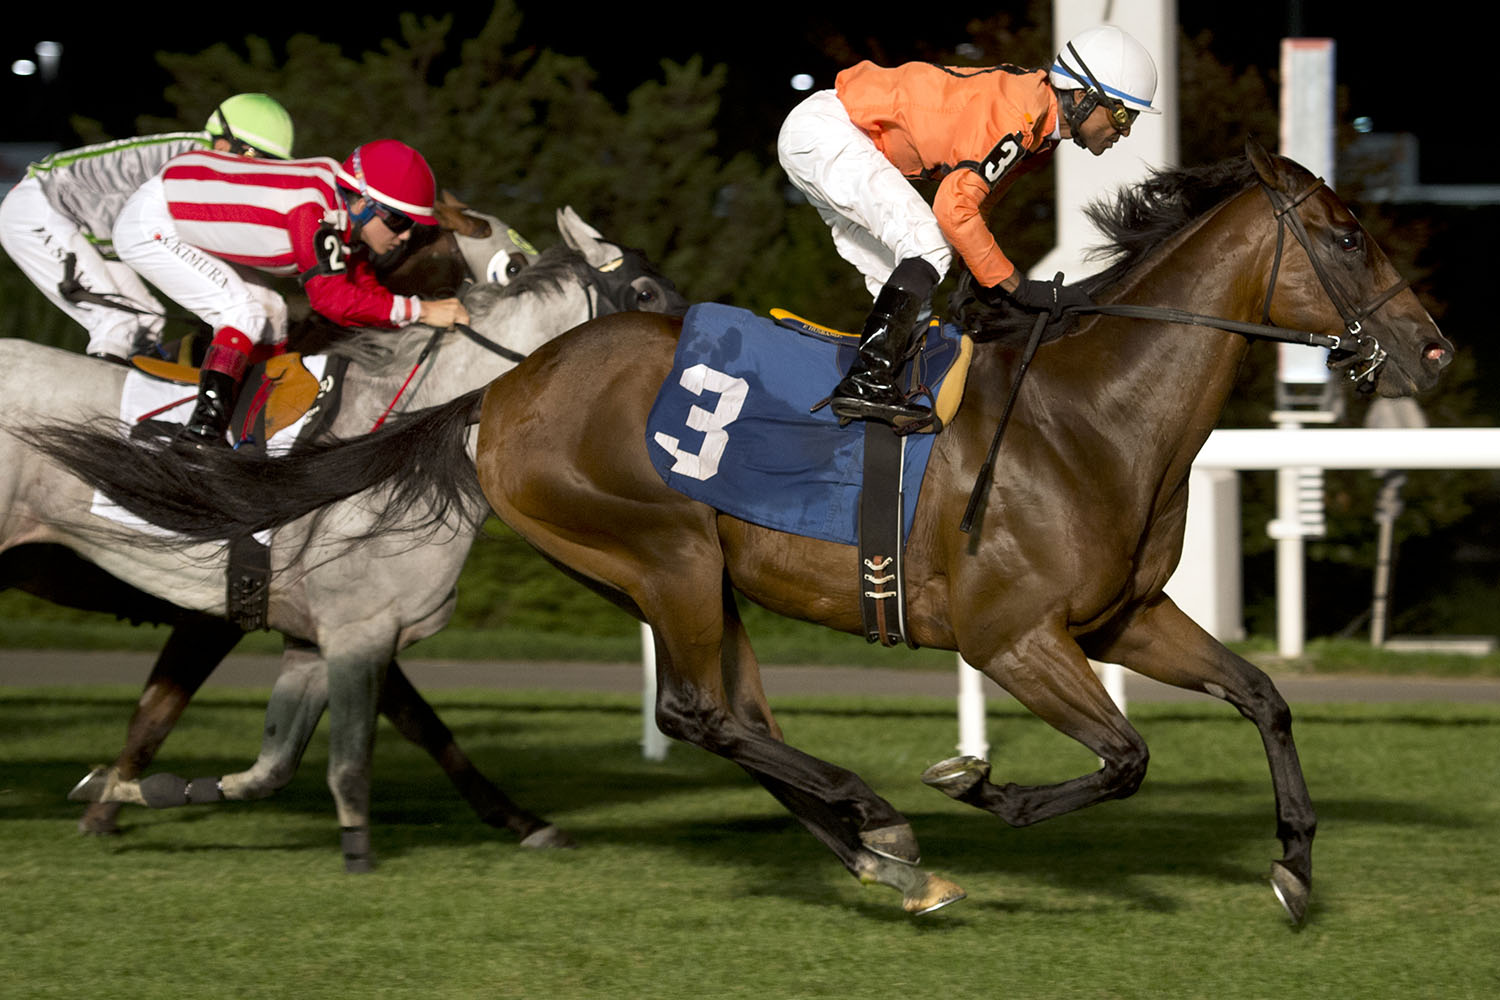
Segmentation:
{"type": "Polygon", "coordinates": [[[48,301],[88,331],[90,354],[123,358],[160,340],[162,303],[126,264],[105,259],[78,223],[46,201],[34,177],[21,180],[0,201],[0,246],[48,301]],[[57,286],[68,273],[69,253],[74,255],[74,277],[86,289],[117,295],[122,304],[141,309],[144,315],[63,298],[57,286]]]}

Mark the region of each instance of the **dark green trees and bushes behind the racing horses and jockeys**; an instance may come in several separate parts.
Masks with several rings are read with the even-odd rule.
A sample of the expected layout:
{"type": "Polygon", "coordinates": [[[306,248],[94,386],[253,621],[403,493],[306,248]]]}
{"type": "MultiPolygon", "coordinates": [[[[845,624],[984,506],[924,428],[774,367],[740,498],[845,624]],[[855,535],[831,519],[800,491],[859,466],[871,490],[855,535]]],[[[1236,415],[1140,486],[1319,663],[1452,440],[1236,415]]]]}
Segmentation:
{"type": "MultiPolygon", "coordinates": [[[[1048,18],[1046,0],[1029,0],[1023,10],[972,21],[958,51],[920,39],[892,51],[876,37],[822,31],[822,54],[828,66],[914,57],[1036,66],[1052,55],[1048,18]]],[[[537,246],[556,240],[554,214],[573,205],[606,237],[644,249],[692,300],[756,310],[784,306],[844,328],[860,322],[867,307],[862,283],[834,253],[816,213],[790,196],[776,163],[774,132],[784,109],[766,102],[726,106],[726,93],[742,93],[730,67],[687,57],[662,60],[650,78],[622,79],[616,70],[602,79],[586,58],[531,40],[513,0],[496,0],[468,37],[458,36],[452,16],[410,13],[390,33],[369,51],[296,34],[278,43],[252,36],[200,52],[162,52],[158,61],[171,78],[165,99],[176,114],[142,117],[136,133],[198,127],[222,96],[266,91],[297,123],[302,156],[342,159],[358,142],[399,138],[428,156],[440,187],[501,216],[537,246]]],[[[1221,48],[1208,31],[1179,37],[1184,163],[1239,156],[1246,136],[1275,145],[1275,78],[1236,67],[1221,48]]],[[[75,117],[70,124],[76,142],[112,138],[99,121],[75,117]]],[[[1340,135],[1341,144],[1354,138],[1353,129],[1340,135]]],[[[1360,175],[1346,177],[1342,162],[1338,187],[1461,348],[1440,390],[1420,400],[1430,421],[1494,424],[1500,405],[1480,373],[1496,370],[1500,358],[1466,334],[1482,328],[1470,289],[1485,286],[1488,258],[1473,249],[1486,244],[1497,213],[1365,202],[1360,175]]],[[[1052,195],[1050,171],[1042,171],[992,220],[1022,267],[1053,243],[1052,195]]],[[[9,306],[0,313],[0,336],[81,348],[81,330],[4,258],[0,294],[9,306]]],[[[1268,426],[1274,376],[1275,349],[1252,348],[1221,426],[1268,426]]],[[[1346,403],[1346,423],[1359,424],[1368,400],[1346,403]]],[[[1251,631],[1269,633],[1264,523],[1274,483],[1270,475],[1244,478],[1246,622],[1251,631]]],[[[1310,634],[1358,624],[1370,604],[1378,483],[1354,472],[1330,472],[1328,483],[1328,537],[1308,550],[1310,634]]],[[[1398,525],[1406,564],[1396,576],[1395,628],[1494,631],[1497,495],[1497,477],[1485,472],[1410,478],[1398,525]],[[1443,592],[1426,594],[1425,583],[1437,576],[1443,592]]],[[[458,624],[632,627],[506,529],[488,534],[465,571],[458,624]]]]}

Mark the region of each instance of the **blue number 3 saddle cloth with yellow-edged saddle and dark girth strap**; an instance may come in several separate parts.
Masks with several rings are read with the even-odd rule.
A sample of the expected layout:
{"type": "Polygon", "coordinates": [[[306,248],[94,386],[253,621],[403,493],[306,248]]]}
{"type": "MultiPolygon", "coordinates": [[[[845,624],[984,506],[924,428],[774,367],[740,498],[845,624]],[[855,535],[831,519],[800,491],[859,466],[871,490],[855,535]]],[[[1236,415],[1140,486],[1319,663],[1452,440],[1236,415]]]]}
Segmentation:
{"type": "MultiPolygon", "coordinates": [[[[934,435],[898,436],[874,421],[840,427],[830,408],[810,412],[843,378],[860,339],[774,315],[688,309],[646,420],[651,463],[672,489],[741,520],[860,546],[866,637],[910,645],[902,550],[934,435]]],[[[902,385],[932,393],[933,430],[958,406],[970,351],[956,327],[933,322],[902,373],[902,385]]]]}

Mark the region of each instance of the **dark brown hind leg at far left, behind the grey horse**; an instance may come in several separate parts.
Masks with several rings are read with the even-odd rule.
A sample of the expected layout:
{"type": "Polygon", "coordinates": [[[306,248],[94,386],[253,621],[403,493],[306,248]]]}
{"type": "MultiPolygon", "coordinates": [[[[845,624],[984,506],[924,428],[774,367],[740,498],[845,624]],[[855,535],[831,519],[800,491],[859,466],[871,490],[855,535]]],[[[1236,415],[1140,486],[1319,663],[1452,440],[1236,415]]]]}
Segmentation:
{"type": "Polygon", "coordinates": [[[213,669],[219,666],[244,633],[228,621],[218,618],[194,618],[180,622],[166,637],[158,655],[152,675],[146,681],[141,699],[136,702],[130,724],[126,729],[124,747],[108,771],[94,772],[75,789],[75,799],[93,799],[78,820],[84,834],[114,834],[118,831],[116,817],[124,802],[141,802],[134,792],[117,792],[123,798],[105,799],[105,787],[120,787],[140,778],[146,766],[156,757],[168,733],[182,718],[188,702],[196,694],[213,669]],[[92,781],[105,784],[93,792],[84,790],[92,781]]]}

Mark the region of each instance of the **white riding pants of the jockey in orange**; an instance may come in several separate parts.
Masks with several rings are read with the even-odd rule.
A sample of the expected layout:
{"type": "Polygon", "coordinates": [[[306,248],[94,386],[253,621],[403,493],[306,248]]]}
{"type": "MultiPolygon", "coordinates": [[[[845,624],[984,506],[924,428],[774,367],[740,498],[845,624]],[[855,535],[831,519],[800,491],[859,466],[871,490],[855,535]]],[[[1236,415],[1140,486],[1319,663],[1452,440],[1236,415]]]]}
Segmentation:
{"type": "Polygon", "coordinates": [[[834,234],[838,255],[874,297],[902,261],[920,256],[939,277],[952,246],[932,207],[849,120],[838,94],[820,90],[792,108],[776,144],[782,169],[834,234]]]}

